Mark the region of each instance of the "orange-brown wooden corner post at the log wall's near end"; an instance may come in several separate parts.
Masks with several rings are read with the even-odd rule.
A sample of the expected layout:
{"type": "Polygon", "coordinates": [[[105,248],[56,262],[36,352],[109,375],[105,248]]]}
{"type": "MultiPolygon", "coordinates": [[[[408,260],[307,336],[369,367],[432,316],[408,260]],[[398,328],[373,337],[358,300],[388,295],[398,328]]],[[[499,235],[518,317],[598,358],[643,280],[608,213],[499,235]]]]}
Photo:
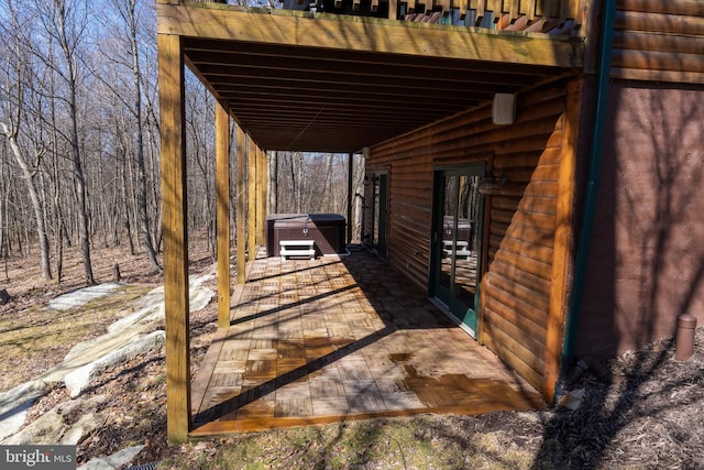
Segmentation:
{"type": "Polygon", "coordinates": [[[560,152],[560,177],[558,181],[558,208],[554,232],[552,273],[550,275],[550,308],[546,338],[542,396],[548,403],[554,398],[554,389],[560,375],[560,359],[568,310],[568,294],[571,287],[569,273],[572,265],[574,230],[574,195],[576,190],[576,155],[580,132],[580,108],[583,83],[574,79],[568,85],[560,152]]]}

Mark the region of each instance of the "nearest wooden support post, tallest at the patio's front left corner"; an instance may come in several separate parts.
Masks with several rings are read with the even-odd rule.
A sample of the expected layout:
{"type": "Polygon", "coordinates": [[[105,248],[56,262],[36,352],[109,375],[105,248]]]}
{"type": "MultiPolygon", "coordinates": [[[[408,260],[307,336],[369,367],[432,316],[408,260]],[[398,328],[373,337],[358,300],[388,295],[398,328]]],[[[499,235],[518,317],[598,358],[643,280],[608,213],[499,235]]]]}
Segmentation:
{"type": "Polygon", "coordinates": [[[185,442],[190,430],[188,229],[184,56],[180,36],[160,34],[164,310],[166,327],[166,435],[185,442]]]}

